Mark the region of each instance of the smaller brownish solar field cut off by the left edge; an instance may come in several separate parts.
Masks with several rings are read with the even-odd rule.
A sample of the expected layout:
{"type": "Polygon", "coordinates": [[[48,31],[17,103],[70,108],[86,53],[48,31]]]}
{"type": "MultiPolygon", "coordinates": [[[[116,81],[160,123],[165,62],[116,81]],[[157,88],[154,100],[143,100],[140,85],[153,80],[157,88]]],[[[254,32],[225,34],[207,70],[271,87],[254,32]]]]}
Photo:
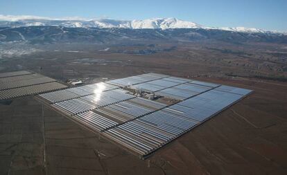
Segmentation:
{"type": "Polygon", "coordinates": [[[66,88],[57,80],[29,71],[0,73],[0,100],[66,88]]]}

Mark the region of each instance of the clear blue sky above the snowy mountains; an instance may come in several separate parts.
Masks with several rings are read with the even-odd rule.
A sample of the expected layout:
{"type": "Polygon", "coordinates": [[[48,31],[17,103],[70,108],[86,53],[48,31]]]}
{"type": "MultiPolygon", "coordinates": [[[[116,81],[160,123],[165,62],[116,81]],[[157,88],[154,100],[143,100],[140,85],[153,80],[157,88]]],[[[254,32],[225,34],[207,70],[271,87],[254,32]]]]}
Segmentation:
{"type": "Polygon", "coordinates": [[[0,0],[0,15],[112,19],[176,17],[204,26],[287,31],[287,0],[0,0]]]}

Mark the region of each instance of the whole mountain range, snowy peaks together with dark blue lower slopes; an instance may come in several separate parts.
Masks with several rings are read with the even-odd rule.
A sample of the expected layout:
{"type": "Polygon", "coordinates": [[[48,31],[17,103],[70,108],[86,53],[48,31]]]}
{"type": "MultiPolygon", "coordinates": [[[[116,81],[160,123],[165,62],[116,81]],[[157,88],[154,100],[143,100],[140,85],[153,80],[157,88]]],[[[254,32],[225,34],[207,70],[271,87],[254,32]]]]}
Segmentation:
{"type": "Polygon", "coordinates": [[[287,33],[256,28],[214,28],[176,18],[144,20],[51,19],[47,17],[0,15],[0,42],[93,42],[123,40],[287,43],[287,33]]]}

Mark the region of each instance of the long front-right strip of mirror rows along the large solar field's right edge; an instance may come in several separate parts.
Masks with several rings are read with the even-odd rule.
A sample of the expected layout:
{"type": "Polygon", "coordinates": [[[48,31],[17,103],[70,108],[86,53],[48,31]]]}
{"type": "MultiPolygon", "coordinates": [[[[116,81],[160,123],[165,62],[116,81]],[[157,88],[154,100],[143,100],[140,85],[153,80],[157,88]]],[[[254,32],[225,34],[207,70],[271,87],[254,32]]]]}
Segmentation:
{"type": "Polygon", "coordinates": [[[239,95],[211,89],[170,107],[107,129],[105,135],[141,156],[146,156],[234,104],[251,91],[241,89],[241,92],[245,93],[239,95]]]}

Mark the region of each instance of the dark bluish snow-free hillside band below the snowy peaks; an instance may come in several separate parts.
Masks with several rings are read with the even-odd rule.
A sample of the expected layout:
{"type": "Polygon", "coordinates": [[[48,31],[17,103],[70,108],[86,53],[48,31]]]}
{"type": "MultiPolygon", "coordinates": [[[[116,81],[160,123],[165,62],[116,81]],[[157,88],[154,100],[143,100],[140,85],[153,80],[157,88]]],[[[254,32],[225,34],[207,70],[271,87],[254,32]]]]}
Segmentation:
{"type": "Polygon", "coordinates": [[[28,42],[30,44],[58,42],[87,42],[96,44],[144,41],[191,42],[208,39],[232,43],[287,43],[287,35],[281,33],[241,33],[205,28],[171,28],[166,30],[160,28],[67,28],[62,26],[0,28],[0,42],[28,42]]]}

